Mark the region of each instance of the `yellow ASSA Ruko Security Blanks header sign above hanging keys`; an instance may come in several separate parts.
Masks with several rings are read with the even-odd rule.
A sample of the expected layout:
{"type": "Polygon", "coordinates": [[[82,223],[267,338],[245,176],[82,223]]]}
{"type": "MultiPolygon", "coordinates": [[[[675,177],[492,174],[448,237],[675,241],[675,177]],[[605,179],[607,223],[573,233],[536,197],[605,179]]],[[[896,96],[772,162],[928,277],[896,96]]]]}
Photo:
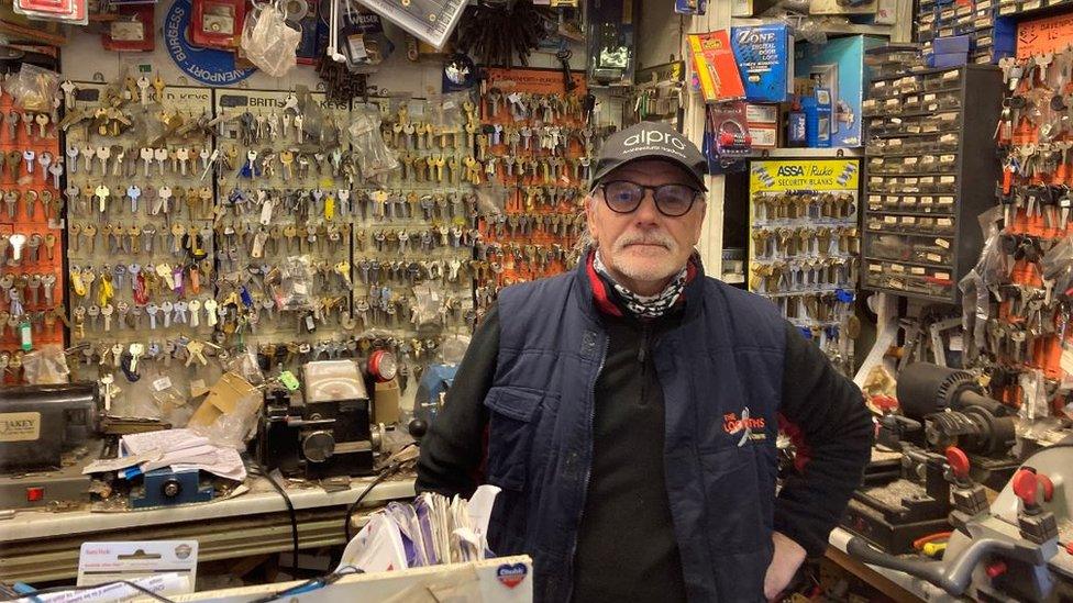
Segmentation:
{"type": "Polygon", "coordinates": [[[753,161],[749,190],[855,190],[860,172],[855,159],[753,161]]]}

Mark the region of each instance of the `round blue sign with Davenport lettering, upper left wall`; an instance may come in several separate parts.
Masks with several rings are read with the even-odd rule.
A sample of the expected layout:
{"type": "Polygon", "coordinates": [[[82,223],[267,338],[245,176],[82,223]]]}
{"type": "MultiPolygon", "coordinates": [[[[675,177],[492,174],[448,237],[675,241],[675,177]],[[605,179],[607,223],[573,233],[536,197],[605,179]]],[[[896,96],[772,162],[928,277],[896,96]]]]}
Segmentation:
{"type": "Polygon", "coordinates": [[[196,48],[187,38],[190,0],[175,0],[164,19],[164,43],[172,60],[191,78],[209,86],[231,86],[256,69],[236,69],[234,55],[212,48],[196,48]]]}

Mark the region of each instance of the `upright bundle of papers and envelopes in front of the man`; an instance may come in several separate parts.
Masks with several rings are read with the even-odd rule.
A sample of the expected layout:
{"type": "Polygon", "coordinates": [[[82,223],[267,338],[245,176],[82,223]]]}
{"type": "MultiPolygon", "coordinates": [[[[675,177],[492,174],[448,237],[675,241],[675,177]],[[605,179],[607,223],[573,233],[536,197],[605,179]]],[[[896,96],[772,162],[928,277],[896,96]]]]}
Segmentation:
{"type": "Polygon", "coordinates": [[[413,503],[389,503],[346,545],[339,568],[390,571],[494,557],[488,520],[498,494],[482,485],[468,501],[425,492],[413,503]]]}

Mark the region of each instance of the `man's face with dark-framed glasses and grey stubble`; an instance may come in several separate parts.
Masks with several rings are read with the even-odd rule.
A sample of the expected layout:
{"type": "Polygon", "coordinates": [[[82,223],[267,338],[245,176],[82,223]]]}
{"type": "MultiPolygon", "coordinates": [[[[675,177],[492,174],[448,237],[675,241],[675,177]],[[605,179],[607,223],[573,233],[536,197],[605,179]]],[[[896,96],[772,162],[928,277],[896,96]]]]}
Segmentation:
{"type": "MultiPolygon", "coordinates": [[[[687,185],[696,181],[677,164],[642,159],[608,174],[601,181],[629,180],[646,187],[687,185]]],[[[621,284],[639,294],[654,294],[686,265],[700,238],[706,203],[698,196],[685,215],[663,215],[652,192],[631,213],[616,213],[596,190],[585,205],[589,234],[597,242],[600,257],[621,284]]]]}

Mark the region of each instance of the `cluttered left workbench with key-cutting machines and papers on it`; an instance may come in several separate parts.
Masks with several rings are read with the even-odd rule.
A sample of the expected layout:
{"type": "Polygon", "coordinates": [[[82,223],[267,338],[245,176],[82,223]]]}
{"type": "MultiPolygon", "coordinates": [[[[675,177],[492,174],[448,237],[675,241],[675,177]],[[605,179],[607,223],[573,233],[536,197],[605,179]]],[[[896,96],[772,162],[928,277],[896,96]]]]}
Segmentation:
{"type": "Polygon", "coordinates": [[[342,545],[413,498],[423,422],[400,427],[354,362],[308,364],[300,391],[247,377],[225,372],[181,429],[111,416],[107,384],[7,389],[0,581],[69,579],[93,539],[193,538],[202,560],[342,545]]]}

